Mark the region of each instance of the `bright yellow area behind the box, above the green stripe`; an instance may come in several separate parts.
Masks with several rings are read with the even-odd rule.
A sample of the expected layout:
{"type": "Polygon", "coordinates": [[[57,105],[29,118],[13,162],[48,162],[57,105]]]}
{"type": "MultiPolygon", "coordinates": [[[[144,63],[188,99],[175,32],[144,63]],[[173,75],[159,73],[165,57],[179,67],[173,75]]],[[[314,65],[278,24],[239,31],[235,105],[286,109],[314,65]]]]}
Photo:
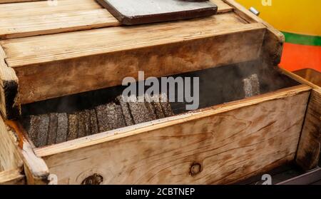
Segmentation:
{"type": "Polygon", "coordinates": [[[263,6],[262,0],[236,1],[247,9],[255,7],[262,19],[280,31],[321,36],[321,0],[271,0],[272,6],[263,6]]]}

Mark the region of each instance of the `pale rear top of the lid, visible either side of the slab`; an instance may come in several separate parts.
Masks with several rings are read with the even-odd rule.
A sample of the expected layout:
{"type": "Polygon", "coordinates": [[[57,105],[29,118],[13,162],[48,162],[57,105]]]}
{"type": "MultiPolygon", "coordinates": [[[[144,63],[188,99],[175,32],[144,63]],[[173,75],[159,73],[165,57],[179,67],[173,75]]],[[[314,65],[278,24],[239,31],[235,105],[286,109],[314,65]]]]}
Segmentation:
{"type": "MultiPolygon", "coordinates": [[[[213,0],[218,12],[232,11],[228,4],[213,0]]],[[[119,26],[120,23],[94,0],[60,0],[0,4],[0,39],[119,26]]]]}

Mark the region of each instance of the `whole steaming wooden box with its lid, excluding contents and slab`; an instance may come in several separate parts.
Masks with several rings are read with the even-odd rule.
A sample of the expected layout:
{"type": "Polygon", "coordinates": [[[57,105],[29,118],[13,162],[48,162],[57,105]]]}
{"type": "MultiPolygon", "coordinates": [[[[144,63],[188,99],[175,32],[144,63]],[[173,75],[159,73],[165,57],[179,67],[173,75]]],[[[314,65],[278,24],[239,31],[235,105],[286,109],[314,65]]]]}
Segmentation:
{"type": "Polygon", "coordinates": [[[0,0],[0,142],[8,143],[0,161],[16,161],[4,172],[29,184],[228,184],[297,154],[313,167],[320,87],[275,67],[279,31],[235,1],[212,1],[218,14],[208,18],[120,26],[94,0],[0,0]],[[264,68],[269,92],[40,148],[15,121],[21,108],[118,86],[138,71],[161,77],[244,63],[264,68]]]}

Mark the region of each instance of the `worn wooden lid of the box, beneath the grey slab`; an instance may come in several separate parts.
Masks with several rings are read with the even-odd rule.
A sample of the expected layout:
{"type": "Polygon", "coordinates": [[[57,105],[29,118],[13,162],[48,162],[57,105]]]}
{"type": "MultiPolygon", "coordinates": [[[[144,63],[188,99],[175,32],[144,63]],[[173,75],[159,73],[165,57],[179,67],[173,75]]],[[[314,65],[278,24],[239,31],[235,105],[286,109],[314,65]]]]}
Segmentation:
{"type": "Polygon", "coordinates": [[[14,68],[19,78],[20,103],[115,86],[125,76],[136,77],[138,70],[150,72],[147,76],[166,76],[253,60],[261,54],[264,37],[269,39],[265,29],[269,29],[267,34],[278,33],[270,31],[270,26],[262,21],[243,14],[233,3],[213,2],[220,14],[206,19],[104,29],[95,28],[105,23],[108,25],[103,26],[119,24],[115,24],[116,19],[109,13],[108,19],[96,15],[106,14],[106,9],[91,0],[81,0],[78,4],[64,0],[57,6],[48,6],[44,1],[1,4],[3,35],[31,36],[0,41],[7,65],[14,68]],[[86,29],[95,30],[78,31],[86,29]],[[54,34],[64,31],[75,32],[54,34]],[[51,35],[33,36],[37,34],[51,35]],[[113,40],[109,39],[111,36],[113,40]]]}

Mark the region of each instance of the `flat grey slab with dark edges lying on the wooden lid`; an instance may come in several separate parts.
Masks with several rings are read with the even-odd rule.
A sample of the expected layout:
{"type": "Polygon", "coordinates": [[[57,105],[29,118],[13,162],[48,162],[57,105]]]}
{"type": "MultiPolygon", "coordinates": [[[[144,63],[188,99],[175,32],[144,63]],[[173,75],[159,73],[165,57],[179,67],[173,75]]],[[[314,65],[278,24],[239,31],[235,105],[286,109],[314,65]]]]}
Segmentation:
{"type": "Polygon", "coordinates": [[[193,19],[216,14],[211,1],[184,0],[96,0],[125,25],[193,19]]]}

